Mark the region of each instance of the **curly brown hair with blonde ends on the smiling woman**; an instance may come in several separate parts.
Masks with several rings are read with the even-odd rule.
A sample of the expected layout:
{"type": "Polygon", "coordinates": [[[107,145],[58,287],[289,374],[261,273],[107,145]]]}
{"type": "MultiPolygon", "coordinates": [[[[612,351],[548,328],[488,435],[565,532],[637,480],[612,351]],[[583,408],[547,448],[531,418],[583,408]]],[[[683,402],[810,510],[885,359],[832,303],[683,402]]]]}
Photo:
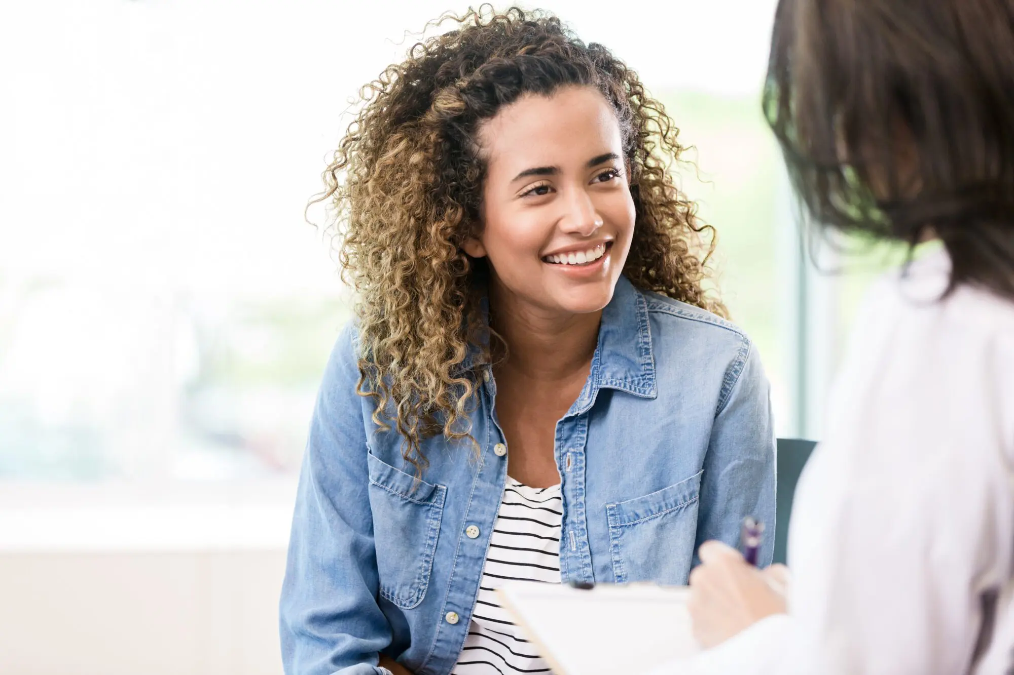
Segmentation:
{"type": "MultiPolygon", "coordinates": [[[[373,421],[404,437],[421,473],[421,441],[470,440],[478,369],[490,362],[481,309],[484,261],[462,242],[482,227],[481,124],[526,93],[595,87],[620,122],[636,219],[624,274],[638,288],[726,315],[702,282],[714,248],[696,205],[669,167],[683,147],[663,106],[601,45],[585,45],[559,18],[488,5],[444,15],[455,29],[414,45],[360,91],[362,105],[323,173],[342,238],[343,276],[359,301],[361,395],[373,421]],[[463,368],[474,353],[470,371],[463,368]]],[[[474,441],[473,441],[474,442],[474,441]]]]}

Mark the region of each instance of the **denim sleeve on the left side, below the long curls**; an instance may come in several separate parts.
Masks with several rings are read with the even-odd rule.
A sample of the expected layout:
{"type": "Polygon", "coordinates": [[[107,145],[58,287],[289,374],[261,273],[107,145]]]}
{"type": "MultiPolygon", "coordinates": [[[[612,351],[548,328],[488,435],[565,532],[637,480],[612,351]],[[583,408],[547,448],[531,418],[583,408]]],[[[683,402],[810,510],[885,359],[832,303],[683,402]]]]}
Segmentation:
{"type": "Polygon", "coordinates": [[[367,445],[354,327],[324,371],[303,456],[280,602],[289,675],[380,675],[390,644],[377,605],[367,445]]]}

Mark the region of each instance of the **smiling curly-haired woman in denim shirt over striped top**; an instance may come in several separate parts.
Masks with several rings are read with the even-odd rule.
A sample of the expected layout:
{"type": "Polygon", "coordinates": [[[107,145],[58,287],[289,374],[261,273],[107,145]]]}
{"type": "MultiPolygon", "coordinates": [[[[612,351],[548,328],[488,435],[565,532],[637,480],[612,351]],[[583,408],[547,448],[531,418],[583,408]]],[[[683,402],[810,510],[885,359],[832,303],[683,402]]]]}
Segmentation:
{"type": "Polygon", "coordinates": [[[683,584],[774,516],[768,381],[704,291],[671,121],[554,17],[456,22],[364,89],[324,174],[359,304],[300,477],[289,673],[546,673],[505,580],[683,584]]]}

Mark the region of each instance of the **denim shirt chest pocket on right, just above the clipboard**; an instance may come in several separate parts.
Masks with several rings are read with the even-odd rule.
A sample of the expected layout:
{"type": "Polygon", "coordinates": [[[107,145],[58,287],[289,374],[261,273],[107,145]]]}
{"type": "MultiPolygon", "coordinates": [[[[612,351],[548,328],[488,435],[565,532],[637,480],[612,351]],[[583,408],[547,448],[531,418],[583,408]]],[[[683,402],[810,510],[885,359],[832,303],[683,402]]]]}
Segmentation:
{"type": "Polygon", "coordinates": [[[644,497],[605,505],[615,583],[686,583],[702,473],[644,497]]]}

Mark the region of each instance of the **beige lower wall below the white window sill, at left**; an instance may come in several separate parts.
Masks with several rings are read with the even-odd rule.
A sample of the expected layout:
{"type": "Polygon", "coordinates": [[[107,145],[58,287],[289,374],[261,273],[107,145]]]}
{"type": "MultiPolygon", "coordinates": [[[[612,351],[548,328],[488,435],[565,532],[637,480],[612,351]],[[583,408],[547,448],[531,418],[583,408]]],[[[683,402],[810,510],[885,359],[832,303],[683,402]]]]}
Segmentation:
{"type": "Polygon", "coordinates": [[[3,675],[279,675],[282,549],[0,552],[3,675]]]}

